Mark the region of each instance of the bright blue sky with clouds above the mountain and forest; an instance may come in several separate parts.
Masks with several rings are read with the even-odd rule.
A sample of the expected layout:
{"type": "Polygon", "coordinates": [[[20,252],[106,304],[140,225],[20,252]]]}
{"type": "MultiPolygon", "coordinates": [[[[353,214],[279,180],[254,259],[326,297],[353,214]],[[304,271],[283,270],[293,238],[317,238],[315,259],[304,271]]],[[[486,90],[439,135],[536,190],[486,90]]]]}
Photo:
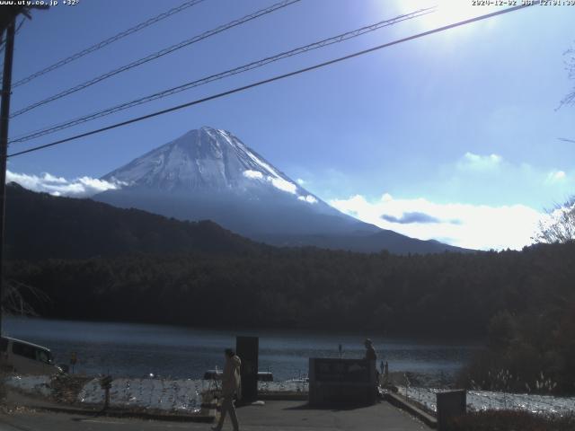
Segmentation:
{"type": "MultiPolygon", "coordinates": [[[[205,0],[30,84],[12,110],[273,4],[205,0]]],[[[181,92],[40,145],[497,8],[439,1],[438,12],[181,92]]],[[[30,75],[180,0],[80,0],[34,12],[17,35],[13,79],[30,75]]],[[[12,120],[10,136],[241,66],[431,1],[302,0],[12,120]]],[[[377,51],[156,119],[14,157],[12,179],[79,195],[107,172],[203,125],[224,128],[344,212],[422,239],[521,248],[544,208],[575,191],[575,6],[534,6],[377,51]],[[49,175],[47,175],[49,174],[49,175]],[[59,181],[59,182],[58,182],[59,181]],[[82,182],[84,181],[84,182],[82,182]],[[84,185],[83,185],[84,184],[84,185]],[[75,191],[74,191],[75,190],[75,191]],[[79,190],[79,191],[78,191],[79,190]],[[415,215],[415,216],[414,216],[415,215]],[[423,215],[423,216],[418,216],[423,215]]],[[[14,144],[11,151],[27,148],[14,144]]]]}

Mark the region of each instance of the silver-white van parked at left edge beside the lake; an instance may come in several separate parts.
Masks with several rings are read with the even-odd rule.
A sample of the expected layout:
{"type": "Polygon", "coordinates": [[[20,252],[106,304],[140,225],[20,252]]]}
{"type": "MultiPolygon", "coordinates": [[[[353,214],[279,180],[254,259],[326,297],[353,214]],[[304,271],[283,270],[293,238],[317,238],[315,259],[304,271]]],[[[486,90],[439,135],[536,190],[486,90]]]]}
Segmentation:
{"type": "Polygon", "coordinates": [[[0,338],[0,369],[18,374],[62,373],[49,348],[10,337],[0,338]]]}

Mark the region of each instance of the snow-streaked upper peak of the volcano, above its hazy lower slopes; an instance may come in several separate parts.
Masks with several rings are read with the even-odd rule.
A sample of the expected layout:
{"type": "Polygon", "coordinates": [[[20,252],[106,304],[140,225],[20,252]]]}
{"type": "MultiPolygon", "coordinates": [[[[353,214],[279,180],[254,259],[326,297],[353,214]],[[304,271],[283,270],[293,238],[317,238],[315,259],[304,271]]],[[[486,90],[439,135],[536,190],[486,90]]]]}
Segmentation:
{"type": "Polygon", "coordinates": [[[230,132],[206,126],[138,157],[102,179],[183,191],[272,187],[308,204],[318,202],[230,132]]]}

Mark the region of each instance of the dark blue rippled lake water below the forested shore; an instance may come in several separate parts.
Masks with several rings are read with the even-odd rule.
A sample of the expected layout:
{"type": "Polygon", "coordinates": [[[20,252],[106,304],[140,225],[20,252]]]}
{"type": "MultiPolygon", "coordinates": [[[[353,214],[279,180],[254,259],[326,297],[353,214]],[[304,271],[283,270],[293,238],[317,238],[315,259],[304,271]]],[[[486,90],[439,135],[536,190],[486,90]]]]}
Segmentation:
{"type": "Polygon", "coordinates": [[[363,340],[373,339],[377,362],[390,372],[413,372],[449,378],[469,360],[478,344],[393,339],[372,334],[329,334],[282,330],[199,330],[191,328],[86,321],[4,318],[5,336],[49,347],[57,364],[69,364],[76,352],[76,373],[121,377],[198,379],[224,365],[223,351],[235,336],[260,337],[260,370],[275,380],[307,374],[309,357],[363,357],[363,340]]]}

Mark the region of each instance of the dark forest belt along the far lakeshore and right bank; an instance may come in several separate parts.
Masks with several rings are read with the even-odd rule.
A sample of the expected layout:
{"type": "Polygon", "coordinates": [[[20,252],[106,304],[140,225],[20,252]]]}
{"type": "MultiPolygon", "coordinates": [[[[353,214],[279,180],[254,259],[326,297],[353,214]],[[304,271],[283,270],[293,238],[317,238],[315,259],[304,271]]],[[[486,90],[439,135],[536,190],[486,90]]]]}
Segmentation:
{"type": "Polygon", "coordinates": [[[575,242],[413,256],[139,254],[6,269],[50,298],[26,298],[46,317],[485,339],[468,384],[494,388],[487,376],[505,370],[521,381],[509,388],[550,380],[553,391],[575,391],[575,242]]]}

